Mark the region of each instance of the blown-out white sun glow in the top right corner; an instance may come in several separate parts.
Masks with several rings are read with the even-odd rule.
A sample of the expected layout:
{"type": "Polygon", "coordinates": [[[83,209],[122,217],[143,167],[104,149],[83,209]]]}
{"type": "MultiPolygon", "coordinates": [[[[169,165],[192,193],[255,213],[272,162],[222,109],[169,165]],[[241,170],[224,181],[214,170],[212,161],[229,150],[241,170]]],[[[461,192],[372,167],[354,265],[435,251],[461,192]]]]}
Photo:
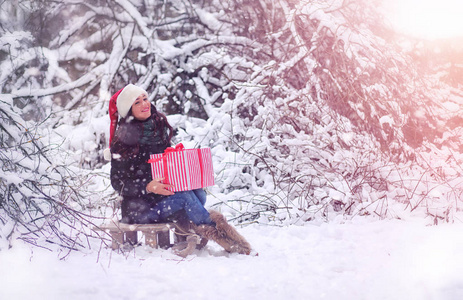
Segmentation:
{"type": "Polygon", "coordinates": [[[462,0],[385,0],[400,32],[425,39],[463,36],[462,0]]]}

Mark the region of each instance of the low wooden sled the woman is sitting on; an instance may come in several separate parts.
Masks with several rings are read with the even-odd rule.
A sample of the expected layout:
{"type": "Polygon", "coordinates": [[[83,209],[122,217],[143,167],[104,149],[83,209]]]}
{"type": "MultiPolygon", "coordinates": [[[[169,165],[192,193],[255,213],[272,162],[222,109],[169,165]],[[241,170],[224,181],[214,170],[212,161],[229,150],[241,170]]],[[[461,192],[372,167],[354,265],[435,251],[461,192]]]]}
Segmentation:
{"type": "Polygon", "coordinates": [[[140,231],[145,237],[145,244],[153,248],[158,246],[169,246],[169,230],[176,229],[174,223],[157,223],[157,224],[126,224],[117,221],[111,221],[107,224],[95,227],[96,230],[109,232],[111,236],[111,248],[119,249],[124,243],[138,242],[137,232],[140,231]]]}

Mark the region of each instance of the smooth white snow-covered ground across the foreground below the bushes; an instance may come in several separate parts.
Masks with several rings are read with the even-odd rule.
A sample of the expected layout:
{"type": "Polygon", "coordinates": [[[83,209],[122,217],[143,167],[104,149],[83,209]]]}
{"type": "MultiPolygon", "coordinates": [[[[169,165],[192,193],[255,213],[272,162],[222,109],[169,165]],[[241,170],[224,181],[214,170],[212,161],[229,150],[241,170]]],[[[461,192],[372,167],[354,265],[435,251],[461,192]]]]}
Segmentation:
{"type": "Polygon", "coordinates": [[[463,224],[358,218],[239,230],[258,256],[212,242],[184,260],[95,244],[59,260],[17,242],[0,252],[0,299],[463,299],[463,224]]]}

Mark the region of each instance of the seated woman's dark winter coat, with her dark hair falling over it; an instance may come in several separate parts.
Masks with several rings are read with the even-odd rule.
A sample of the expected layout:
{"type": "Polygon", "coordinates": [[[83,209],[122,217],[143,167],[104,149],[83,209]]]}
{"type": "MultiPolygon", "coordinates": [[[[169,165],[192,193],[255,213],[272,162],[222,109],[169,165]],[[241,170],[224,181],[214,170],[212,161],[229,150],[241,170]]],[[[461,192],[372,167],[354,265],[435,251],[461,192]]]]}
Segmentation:
{"type": "Polygon", "coordinates": [[[145,121],[129,116],[120,120],[111,144],[111,185],[122,196],[124,223],[149,223],[138,216],[146,215],[164,196],[148,193],[152,180],[150,154],[163,153],[170,146],[172,128],[165,117],[151,106],[152,115],[145,121]],[[165,122],[165,126],[160,126],[165,122]],[[160,130],[161,128],[161,130],[160,130]]]}

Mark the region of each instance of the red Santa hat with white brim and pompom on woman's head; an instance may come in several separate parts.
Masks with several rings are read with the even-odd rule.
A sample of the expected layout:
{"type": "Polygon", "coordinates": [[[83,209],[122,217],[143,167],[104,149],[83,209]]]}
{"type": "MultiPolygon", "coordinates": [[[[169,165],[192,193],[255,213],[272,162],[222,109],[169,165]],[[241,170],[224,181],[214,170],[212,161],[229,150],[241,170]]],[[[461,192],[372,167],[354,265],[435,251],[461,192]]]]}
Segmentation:
{"type": "MultiPolygon", "coordinates": [[[[114,133],[116,132],[119,116],[122,118],[127,117],[132,104],[135,102],[138,96],[142,94],[148,95],[148,93],[141,87],[129,84],[125,88],[117,91],[117,93],[115,93],[109,100],[109,118],[111,120],[111,126],[109,128],[110,146],[114,137],[114,133]]],[[[106,160],[111,160],[111,150],[109,147],[103,151],[103,155],[106,160]]]]}

